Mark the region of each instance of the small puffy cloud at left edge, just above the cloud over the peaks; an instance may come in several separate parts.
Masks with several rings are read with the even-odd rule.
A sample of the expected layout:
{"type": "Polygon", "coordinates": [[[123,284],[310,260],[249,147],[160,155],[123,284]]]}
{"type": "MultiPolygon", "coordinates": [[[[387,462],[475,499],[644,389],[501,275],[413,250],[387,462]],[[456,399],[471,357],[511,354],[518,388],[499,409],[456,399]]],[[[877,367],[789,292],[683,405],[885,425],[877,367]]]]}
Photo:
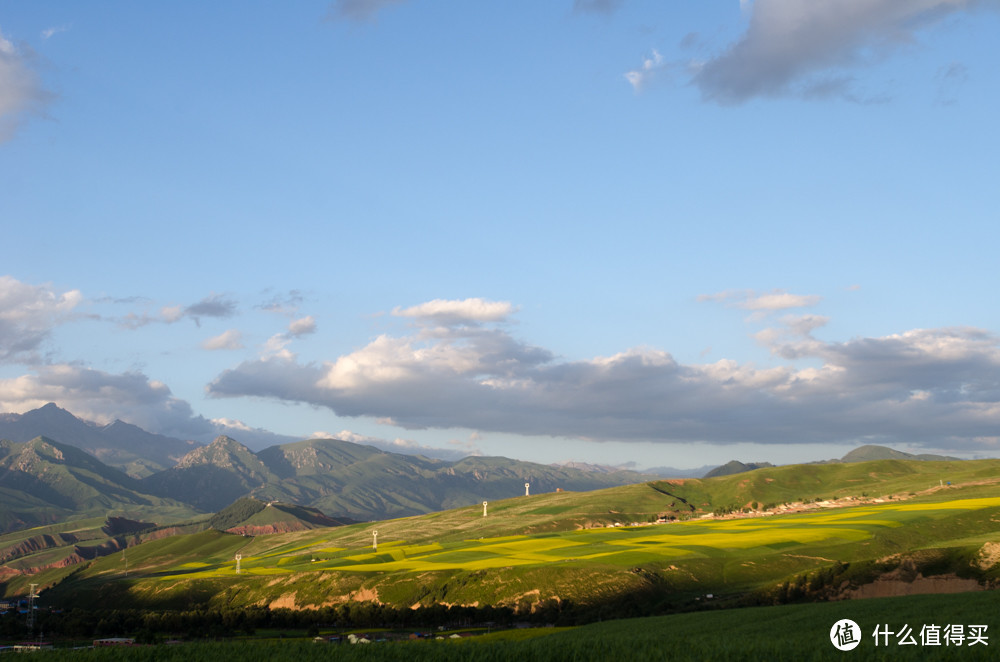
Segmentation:
{"type": "Polygon", "coordinates": [[[0,276],[0,362],[38,362],[40,346],[51,330],[82,300],[78,290],[60,293],[47,285],[0,276]]]}

